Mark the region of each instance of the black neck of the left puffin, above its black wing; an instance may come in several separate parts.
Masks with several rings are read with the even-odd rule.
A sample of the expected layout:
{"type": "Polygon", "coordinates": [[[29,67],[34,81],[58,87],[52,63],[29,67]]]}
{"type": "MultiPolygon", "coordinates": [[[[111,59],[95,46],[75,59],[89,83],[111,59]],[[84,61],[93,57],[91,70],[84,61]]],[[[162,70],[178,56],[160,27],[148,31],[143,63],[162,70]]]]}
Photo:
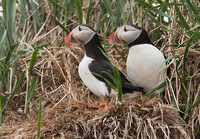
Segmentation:
{"type": "Polygon", "coordinates": [[[89,42],[84,44],[84,47],[85,47],[86,56],[88,56],[92,59],[96,59],[96,60],[97,59],[106,59],[106,57],[102,53],[102,51],[105,52],[105,50],[102,47],[97,34],[95,34],[89,42]]]}

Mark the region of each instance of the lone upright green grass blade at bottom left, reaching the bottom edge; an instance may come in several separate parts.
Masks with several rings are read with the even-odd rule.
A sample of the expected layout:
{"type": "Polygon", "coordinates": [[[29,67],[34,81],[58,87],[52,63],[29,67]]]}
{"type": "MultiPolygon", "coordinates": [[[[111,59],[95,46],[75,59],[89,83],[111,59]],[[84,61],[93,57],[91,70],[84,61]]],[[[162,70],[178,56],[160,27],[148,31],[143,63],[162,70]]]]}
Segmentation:
{"type": "Polygon", "coordinates": [[[38,112],[38,128],[37,128],[37,139],[40,139],[40,129],[41,129],[41,121],[42,121],[42,101],[40,93],[38,92],[39,97],[39,112],[38,112]]]}

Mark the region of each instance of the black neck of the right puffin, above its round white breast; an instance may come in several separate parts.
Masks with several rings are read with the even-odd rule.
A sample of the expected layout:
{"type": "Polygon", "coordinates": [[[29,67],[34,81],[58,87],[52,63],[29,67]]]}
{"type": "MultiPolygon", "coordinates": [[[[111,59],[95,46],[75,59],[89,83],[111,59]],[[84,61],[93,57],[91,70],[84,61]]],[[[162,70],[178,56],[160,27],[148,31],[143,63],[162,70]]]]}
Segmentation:
{"type": "Polygon", "coordinates": [[[147,32],[143,29],[140,36],[133,42],[128,44],[128,47],[131,48],[134,45],[138,45],[138,44],[151,44],[153,45],[153,43],[151,42],[147,32]]]}

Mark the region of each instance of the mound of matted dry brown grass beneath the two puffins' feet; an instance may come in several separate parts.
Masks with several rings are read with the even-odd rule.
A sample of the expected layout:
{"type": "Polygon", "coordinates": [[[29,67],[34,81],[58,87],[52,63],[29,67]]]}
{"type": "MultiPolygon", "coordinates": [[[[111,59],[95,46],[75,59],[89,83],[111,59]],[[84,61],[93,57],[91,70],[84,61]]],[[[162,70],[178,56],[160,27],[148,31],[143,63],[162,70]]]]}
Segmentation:
{"type": "MultiPolygon", "coordinates": [[[[95,101],[95,100],[94,100],[95,101]]],[[[97,102],[98,103],[98,102],[97,102]]],[[[63,100],[42,114],[42,138],[189,138],[178,123],[177,110],[158,98],[123,100],[116,107],[92,109],[83,101],[63,100]]],[[[4,137],[36,138],[37,119],[4,126],[4,137]]]]}

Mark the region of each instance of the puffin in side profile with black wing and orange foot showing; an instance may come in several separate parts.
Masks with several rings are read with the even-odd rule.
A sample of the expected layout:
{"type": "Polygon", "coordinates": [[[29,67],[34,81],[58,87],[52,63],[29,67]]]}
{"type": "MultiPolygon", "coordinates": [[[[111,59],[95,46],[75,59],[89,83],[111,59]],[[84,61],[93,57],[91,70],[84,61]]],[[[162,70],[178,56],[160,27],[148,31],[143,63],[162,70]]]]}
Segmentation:
{"type": "MultiPolygon", "coordinates": [[[[112,79],[105,73],[114,75],[113,69],[107,57],[102,53],[105,52],[102,47],[96,31],[88,24],[82,24],[75,27],[66,37],[65,46],[72,45],[84,46],[84,57],[79,63],[78,73],[83,83],[97,96],[105,98],[103,105],[88,105],[92,108],[107,107],[109,98],[118,92],[111,88],[107,82],[113,83],[112,79]],[[101,76],[97,76],[97,73],[101,76]],[[103,77],[103,78],[102,78],[103,77]]],[[[131,84],[125,75],[119,70],[122,94],[131,93],[133,99],[140,97],[144,93],[141,87],[131,84]]]]}

